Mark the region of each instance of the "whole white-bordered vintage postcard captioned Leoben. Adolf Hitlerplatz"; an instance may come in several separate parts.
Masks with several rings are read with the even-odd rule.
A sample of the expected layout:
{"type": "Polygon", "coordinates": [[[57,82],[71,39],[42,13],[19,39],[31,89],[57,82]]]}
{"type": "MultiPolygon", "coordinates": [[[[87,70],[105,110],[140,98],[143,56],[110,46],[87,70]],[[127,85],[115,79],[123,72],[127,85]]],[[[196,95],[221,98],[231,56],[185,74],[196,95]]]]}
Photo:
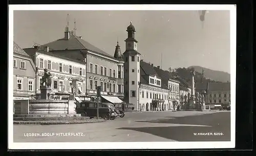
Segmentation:
{"type": "Polygon", "coordinates": [[[9,149],[235,147],[236,5],[10,5],[9,149]]]}

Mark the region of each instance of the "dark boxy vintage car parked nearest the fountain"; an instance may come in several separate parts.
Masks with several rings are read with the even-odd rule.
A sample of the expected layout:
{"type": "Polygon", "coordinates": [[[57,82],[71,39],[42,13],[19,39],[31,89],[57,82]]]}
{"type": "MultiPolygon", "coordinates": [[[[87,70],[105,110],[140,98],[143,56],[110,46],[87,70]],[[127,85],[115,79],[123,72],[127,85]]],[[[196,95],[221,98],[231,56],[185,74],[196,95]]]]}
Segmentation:
{"type": "MultiPolygon", "coordinates": [[[[77,103],[76,113],[81,114],[82,117],[97,117],[97,102],[80,102],[77,103]]],[[[109,107],[102,107],[99,103],[99,117],[106,120],[110,119],[111,116],[116,115],[115,110],[109,107]]]]}

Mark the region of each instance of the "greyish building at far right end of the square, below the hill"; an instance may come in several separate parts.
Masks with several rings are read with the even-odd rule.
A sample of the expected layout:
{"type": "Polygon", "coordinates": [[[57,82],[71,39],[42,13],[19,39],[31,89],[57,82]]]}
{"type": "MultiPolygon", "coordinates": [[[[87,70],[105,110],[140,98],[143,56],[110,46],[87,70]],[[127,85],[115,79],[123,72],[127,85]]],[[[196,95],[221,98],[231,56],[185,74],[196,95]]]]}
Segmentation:
{"type": "Polygon", "coordinates": [[[208,82],[207,103],[210,107],[219,108],[230,103],[230,82],[208,82]]]}

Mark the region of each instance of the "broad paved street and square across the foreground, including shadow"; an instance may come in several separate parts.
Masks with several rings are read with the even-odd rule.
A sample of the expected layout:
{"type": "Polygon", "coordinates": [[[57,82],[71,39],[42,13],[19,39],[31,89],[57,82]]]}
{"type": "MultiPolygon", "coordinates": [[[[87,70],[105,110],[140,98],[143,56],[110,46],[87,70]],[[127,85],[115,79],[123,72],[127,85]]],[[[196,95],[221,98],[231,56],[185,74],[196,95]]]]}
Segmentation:
{"type": "Polygon", "coordinates": [[[13,131],[14,142],[230,141],[230,111],[136,112],[99,123],[14,125],[13,131]]]}

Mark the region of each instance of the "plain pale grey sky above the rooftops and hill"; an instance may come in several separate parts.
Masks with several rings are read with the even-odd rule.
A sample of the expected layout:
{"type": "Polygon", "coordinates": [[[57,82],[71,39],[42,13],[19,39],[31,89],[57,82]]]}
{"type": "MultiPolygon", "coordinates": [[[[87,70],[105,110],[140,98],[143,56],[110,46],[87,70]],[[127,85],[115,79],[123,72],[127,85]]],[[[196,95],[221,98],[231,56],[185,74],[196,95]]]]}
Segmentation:
{"type": "Polygon", "coordinates": [[[21,48],[31,48],[63,38],[68,21],[70,30],[76,21],[77,36],[114,56],[117,40],[125,51],[126,28],[132,21],[137,51],[145,62],[162,64],[163,70],[199,65],[230,73],[229,19],[229,11],[217,10],[209,10],[204,22],[195,10],[14,11],[13,33],[21,48]]]}

